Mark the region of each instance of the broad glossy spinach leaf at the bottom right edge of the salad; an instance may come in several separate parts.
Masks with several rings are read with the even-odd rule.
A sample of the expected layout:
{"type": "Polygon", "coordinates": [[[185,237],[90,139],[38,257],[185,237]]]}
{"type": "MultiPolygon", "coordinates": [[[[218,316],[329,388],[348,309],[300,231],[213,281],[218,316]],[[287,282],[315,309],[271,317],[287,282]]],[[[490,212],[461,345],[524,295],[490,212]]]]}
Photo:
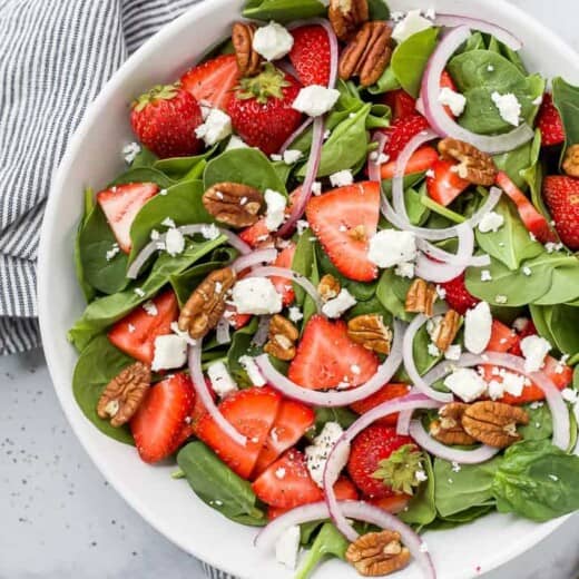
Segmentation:
{"type": "Polygon", "coordinates": [[[504,452],[492,483],[499,512],[542,522],[579,509],[579,457],[548,440],[529,440],[504,452]]]}

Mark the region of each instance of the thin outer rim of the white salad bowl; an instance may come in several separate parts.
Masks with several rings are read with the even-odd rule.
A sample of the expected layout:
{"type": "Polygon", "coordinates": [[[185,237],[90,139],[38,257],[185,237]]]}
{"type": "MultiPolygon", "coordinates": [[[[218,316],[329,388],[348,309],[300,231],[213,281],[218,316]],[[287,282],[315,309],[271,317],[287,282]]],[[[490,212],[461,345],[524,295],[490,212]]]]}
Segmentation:
{"type": "MultiPolygon", "coordinates": [[[[416,3],[420,2],[423,2],[423,0],[416,0],[416,3]]],[[[550,28],[542,24],[534,16],[524,12],[522,8],[511,4],[507,0],[485,0],[485,3],[489,4],[489,10],[500,14],[501,19],[503,17],[518,19],[521,22],[521,26],[534,32],[536,35],[542,35],[543,37],[547,37],[547,41],[550,45],[555,46],[559,51],[573,55],[575,58],[579,61],[579,53],[566,40],[560,38],[550,28]]],[[[128,57],[128,59],[112,73],[110,79],[105,84],[96,99],[87,106],[82,119],[75,129],[72,136],[70,137],[65,155],[62,156],[62,159],[52,177],[49,196],[47,198],[45,216],[42,219],[42,226],[40,230],[37,269],[37,292],[40,335],[52,386],[57,393],[59,404],[62,409],[62,412],[65,413],[65,416],[67,418],[70,428],[72,429],[72,432],[75,433],[76,438],[79,440],[82,448],[88,453],[99,472],[120,494],[122,500],[126,501],[143,519],[145,519],[145,521],[147,521],[148,524],[150,524],[155,530],[160,532],[165,538],[167,538],[174,544],[179,547],[181,550],[198,558],[202,562],[213,566],[235,577],[248,577],[239,576],[239,571],[235,569],[234,563],[229,561],[228,558],[220,559],[217,555],[218,550],[200,552],[190,544],[185,544],[185,541],[183,541],[178,534],[171,532],[170,524],[159,521],[149,511],[148,506],[146,503],[143,503],[131,492],[130,485],[126,483],[120,477],[117,477],[117,473],[114,470],[114,468],[109,465],[107,461],[101,457],[101,453],[99,453],[99,451],[96,448],[94,448],[92,443],[90,442],[90,436],[86,436],[84,433],[81,433],[78,416],[75,415],[73,410],[69,408],[68,402],[65,400],[63,389],[71,386],[68,383],[68,380],[60,380],[60,375],[62,374],[62,372],[60,371],[58,363],[58,349],[50,340],[51,331],[50,327],[48,327],[47,321],[48,312],[51,307],[51,304],[50,292],[48,288],[48,284],[46,283],[46,281],[49,278],[50,271],[50,255],[48,252],[48,243],[46,242],[51,236],[51,230],[55,228],[57,224],[60,198],[65,195],[63,183],[67,178],[67,175],[71,170],[72,163],[77,154],[77,149],[81,146],[87,128],[94,122],[96,117],[100,114],[102,104],[106,102],[109,96],[117,90],[117,87],[122,82],[124,78],[127,75],[129,75],[134,68],[140,66],[140,63],[146,60],[147,55],[153,53],[159,43],[170,38],[181,27],[190,26],[197,17],[210,13],[215,10],[219,10],[220,8],[226,8],[229,4],[230,0],[210,0],[200,2],[187,9],[183,14],[177,17],[171,22],[165,24],[159,31],[157,31],[154,36],[147,39],[139,47],[138,50],[136,50],[133,55],[128,57]],[[67,383],[66,386],[63,382],[67,383]]],[[[464,11],[465,10],[462,7],[457,7],[457,10],[454,12],[463,13],[464,11]]],[[[484,572],[487,573],[495,569],[497,567],[504,565],[508,561],[519,557],[521,553],[532,548],[539,541],[551,534],[570,517],[572,517],[572,513],[567,514],[565,517],[560,517],[558,519],[553,519],[542,524],[538,524],[533,527],[531,532],[526,533],[523,537],[514,538],[513,542],[510,543],[510,548],[508,550],[500,551],[499,553],[488,557],[485,559],[484,572]]],[[[474,575],[477,573],[472,573],[464,570],[464,572],[462,575],[459,575],[458,577],[460,577],[460,579],[469,579],[471,577],[474,577],[474,575]]]]}

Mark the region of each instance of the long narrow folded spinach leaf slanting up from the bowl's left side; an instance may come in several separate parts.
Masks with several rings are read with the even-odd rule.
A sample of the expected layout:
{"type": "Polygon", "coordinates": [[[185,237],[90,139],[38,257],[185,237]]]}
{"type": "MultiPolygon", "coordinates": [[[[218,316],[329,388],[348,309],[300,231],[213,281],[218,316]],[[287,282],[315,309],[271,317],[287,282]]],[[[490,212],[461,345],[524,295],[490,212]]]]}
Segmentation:
{"type": "Polygon", "coordinates": [[[140,295],[135,292],[138,286],[133,286],[124,292],[95,300],[69,331],[69,341],[77,350],[82,351],[95,335],[153,297],[167,284],[171,275],[184,272],[225,241],[226,238],[220,236],[217,239],[203,243],[193,242],[187,245],[185,252],[175,257],[167,253],[161,254],[155,262],[148,277],[140,284],[140,295]]]}

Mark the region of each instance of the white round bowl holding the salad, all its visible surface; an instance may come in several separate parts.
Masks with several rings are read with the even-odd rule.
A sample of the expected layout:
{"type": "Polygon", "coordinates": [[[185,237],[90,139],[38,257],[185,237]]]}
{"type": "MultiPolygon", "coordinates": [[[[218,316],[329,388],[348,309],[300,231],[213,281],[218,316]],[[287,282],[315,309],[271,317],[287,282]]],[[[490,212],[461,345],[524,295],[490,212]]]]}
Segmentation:
{"type": "MultiPolygon", "coordinates": [[[[579,82],[579,56],[528,14],[502,0],[391,0],[391,8],[434,7],[439,12],[483,18],[511,30],[527,48],[531,71],[562,75],[579,82]]],[[[48,367],[62,409],[91,459],[125,500],[153,527],[196,557],[243,578],[291,578],[274,557],[253,548],[255,529],[234,523],[205,506],[184,481],[170,479],[170,467],[149,467],[135,450],[108,439],[82,415],[72,396],[77,353],[66,340],[80,315],[84,300],[72,264],[72,242],[81,214],[85,186],[105,185],[124,164],[120,150],[133,140],[128,121],[130,99],[153,85],[171,81],[207,46],[227,35],[239,18],[241,0],[203,2],[146,42],[102,89],[88,108],[68,146],[48,199],[40,242],[38,290],[42,342],[48,367]]],[[[439,577],[465,579],[504,563],[543,539],[563,519],[534,524],[493,514],[455,530],[426,534],[439,577]]],[[[318,579],[354,577],[334,560],[318,579]]],[[[420,577],[415,565],[396,575],[420,577]]]]}

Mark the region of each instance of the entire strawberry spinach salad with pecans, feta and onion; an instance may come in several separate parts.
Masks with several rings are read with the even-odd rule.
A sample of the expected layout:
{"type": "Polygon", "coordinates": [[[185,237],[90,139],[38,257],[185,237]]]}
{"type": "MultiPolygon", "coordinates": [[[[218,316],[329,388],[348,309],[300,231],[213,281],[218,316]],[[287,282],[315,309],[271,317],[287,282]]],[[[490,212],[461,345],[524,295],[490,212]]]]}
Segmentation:
{"type": "Polygon", "coordinates": [[[249,0],[85,192],[79,408],[298,578],[433,578],[425,531],[579,509],[579,88],[520,49],[249,0]]]}

